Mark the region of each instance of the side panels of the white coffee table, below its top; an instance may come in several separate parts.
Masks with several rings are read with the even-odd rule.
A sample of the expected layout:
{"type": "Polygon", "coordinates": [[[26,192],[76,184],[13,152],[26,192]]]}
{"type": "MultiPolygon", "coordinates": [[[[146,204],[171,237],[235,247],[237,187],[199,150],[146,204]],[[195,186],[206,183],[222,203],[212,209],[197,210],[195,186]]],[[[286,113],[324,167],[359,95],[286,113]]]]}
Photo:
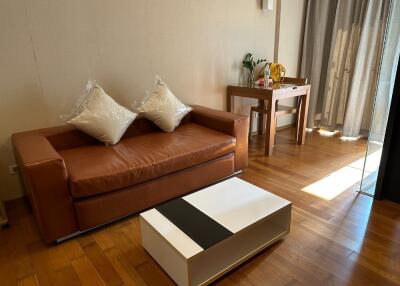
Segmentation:
{"type": "Polygon", "coordinates": [[[207,285],[290,231],[291,205],[258,221],[189,259],[140,217],[142,245],[181,286],[207,285]]]}

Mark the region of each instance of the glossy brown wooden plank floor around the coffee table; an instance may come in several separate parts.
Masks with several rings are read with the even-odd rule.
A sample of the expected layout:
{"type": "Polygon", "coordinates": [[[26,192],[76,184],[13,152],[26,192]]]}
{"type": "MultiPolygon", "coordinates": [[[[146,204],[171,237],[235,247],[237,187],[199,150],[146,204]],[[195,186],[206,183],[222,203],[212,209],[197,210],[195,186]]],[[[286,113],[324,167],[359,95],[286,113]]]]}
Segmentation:
{"type": "MultiPolygon", "coordinates": [[[[291,233],[216,284],[400,285],[400,205],[373,203],[357,186],[331,200],[302,191],[361,158],[365,141],[315,132],[296,146],[292,132],[279,132],[269,158],[255,138],[241,175],[293,202],[291,233]]],[[[9,204],[8,214],[0,285],[173,285],[141,247],[137,216],[49,247],[25,204],[9,204]]]]}

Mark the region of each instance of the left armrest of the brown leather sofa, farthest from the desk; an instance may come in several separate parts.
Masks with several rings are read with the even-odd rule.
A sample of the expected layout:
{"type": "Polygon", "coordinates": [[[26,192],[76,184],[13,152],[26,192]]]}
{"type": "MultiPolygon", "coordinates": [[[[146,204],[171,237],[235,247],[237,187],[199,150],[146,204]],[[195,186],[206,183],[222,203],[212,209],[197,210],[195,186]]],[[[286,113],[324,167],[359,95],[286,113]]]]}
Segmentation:
{"type": "Polygon", "coordinates": [[[64,160],[47,138],[31,132],[12,136],[14,153],[46,242],[78,230],[64,160]]]}

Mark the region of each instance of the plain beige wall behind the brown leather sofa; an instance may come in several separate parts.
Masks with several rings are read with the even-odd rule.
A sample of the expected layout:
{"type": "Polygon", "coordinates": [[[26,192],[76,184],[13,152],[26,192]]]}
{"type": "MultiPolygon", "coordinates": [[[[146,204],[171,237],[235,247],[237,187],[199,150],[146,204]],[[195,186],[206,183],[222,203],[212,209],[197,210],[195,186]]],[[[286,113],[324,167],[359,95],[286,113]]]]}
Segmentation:
{"type": "Polygon", "coordinates": [[[88,79],[129,106],[159,74],[183,101],[223,109],[244,54],[273,59],[274,31],[257,0],[2,0],[0,198],[23,194],[10,135],[60,124],[88,79]]]}

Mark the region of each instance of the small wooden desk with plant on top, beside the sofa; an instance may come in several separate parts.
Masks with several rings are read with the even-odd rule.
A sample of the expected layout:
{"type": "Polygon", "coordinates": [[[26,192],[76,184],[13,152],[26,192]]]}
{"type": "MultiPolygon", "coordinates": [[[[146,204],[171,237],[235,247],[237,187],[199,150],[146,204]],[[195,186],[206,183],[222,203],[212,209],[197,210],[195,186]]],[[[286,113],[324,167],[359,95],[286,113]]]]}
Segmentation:
{"type": "MultiPolygon", "coordinates": [[[[227,89],[227,106],[228,111],[234,110],[234,96],[255,98],[259,100],[259,105],[264,105],[267,101],[267,122],[265,134],[265,155],[271,156],[275,142],[275,112],[277,100],[300,97],[300,110],[299,110],[299,132],[296,138],[296,143],[299,145],[304,144],[305,132],[307,124],[308,102],[310,97],[311,85],[301,84],[280,84],[275,83],[272,88],[265,87],[245,87],[245,86],[228,86],[227,89]]],[[[263,133],[260,128],[264,126],[264,117],[260,116],[258,119],[259,133],[263,133]]]]}

